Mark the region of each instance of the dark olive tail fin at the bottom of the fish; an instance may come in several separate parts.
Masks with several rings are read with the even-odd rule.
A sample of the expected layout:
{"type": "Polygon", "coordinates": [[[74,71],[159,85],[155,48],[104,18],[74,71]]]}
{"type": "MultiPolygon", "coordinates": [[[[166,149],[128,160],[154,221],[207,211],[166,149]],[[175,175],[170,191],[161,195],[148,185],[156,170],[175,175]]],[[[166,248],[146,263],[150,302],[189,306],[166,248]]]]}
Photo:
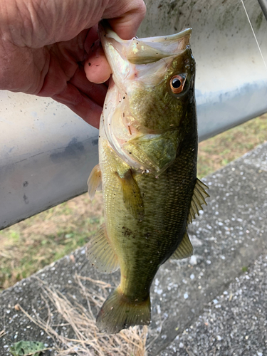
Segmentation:
{"type": "Polygon", "coordinates": [[[100,332],[108,334],[117,334],[133,325],[149,324],[150,295],[142,302],[132,301],[120,293],[118,288],[105,300],[96,318],[100,332]]]}

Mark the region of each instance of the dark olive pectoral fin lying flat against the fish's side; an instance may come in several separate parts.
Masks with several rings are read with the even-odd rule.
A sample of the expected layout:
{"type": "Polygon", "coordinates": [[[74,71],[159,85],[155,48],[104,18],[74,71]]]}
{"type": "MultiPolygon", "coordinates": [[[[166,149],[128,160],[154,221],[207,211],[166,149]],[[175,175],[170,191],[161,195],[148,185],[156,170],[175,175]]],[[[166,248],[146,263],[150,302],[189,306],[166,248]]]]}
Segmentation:
{"type": "Polygon", "coordinates": [[[144,217],[144,204],[140,189],[137,182],[135,182],[135,178],[132,176],[131,169],[128,169],[127,172],[123,174],[123,177],[120,177],[119,174],[117,174],[117,177],[120,179],[126,209],[130,211],[130,214],[132,214],[135,219],[142,220],[144,217]]]}

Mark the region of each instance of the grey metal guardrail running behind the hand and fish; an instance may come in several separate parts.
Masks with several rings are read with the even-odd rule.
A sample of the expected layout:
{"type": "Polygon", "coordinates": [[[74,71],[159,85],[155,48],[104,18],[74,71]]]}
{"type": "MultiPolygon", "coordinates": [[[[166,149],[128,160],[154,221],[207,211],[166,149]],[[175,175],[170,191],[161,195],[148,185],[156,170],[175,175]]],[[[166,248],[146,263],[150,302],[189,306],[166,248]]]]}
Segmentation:
{"type": "MultiPolygon", "coordinates": [[[[263,58],[241,1],[146,3],[139,36],[193,28],[199,140],[267,111],[267,21],[257,1],[244,4],[263,58]]],[[[97,162],[98,130],[68,108],[0,92],[0,229],[85,192],[97,162]]]]}

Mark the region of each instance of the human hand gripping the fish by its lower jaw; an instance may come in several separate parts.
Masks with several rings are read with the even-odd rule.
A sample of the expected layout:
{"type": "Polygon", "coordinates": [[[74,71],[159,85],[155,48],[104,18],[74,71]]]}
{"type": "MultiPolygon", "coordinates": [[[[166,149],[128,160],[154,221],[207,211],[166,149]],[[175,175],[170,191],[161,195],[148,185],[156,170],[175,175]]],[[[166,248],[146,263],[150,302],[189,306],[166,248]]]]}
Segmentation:
{"type": "Polygon", "coordinates": [[[132,38],[144,2],[0,0],[0,12],[0,89],[49,96],[98,127],[110,67],[97,24],[108,19],[120,37],[132,38]]]}

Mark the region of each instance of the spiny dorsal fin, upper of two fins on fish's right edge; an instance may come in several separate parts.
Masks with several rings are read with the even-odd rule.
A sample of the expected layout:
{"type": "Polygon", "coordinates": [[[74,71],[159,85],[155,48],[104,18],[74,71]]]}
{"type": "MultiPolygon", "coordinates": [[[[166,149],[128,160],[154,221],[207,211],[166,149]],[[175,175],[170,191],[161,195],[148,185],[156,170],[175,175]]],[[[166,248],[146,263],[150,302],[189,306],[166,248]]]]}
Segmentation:
{"type": "Polygon", "coordinates": [[[209,197],[209,194],[205,189],[209,189],[209,187],[207,187],[206,184],[197,178],[187,218],[187,224],[191,224],[196,215],[199,215],[199,210],[202,210],[202,205],[206,205],[205,199],[209,197]]]}

